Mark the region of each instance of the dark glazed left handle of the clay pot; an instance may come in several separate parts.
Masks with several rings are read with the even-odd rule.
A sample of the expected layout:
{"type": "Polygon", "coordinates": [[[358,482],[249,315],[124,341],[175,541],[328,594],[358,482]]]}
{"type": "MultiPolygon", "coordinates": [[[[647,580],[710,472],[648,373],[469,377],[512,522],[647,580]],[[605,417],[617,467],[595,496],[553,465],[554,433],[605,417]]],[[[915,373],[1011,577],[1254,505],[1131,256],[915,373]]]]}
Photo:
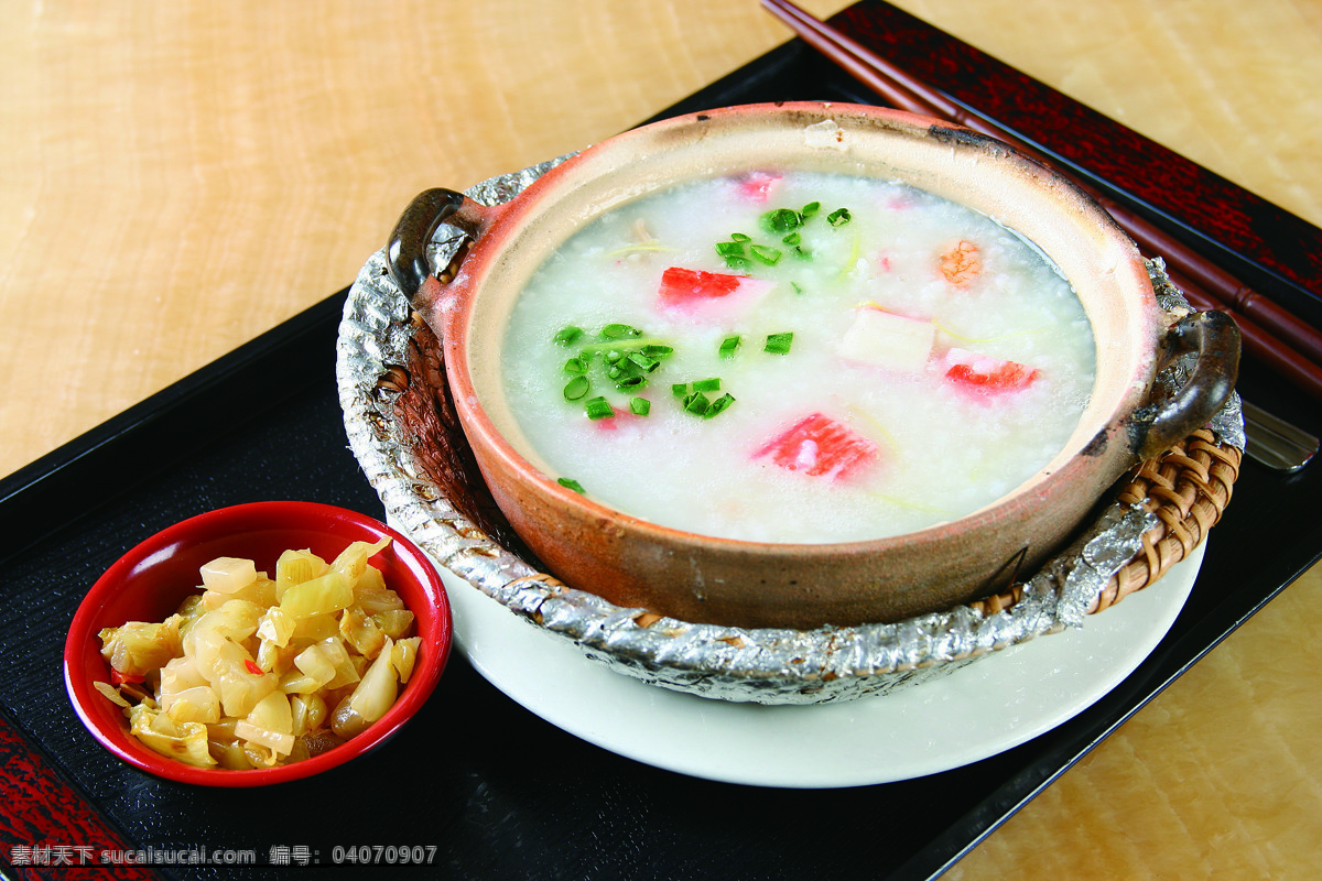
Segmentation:
{"type": "Polygon", "coordinates": [[[431,304],[444,287],[427,259],[427,243],[436,234],[436,227],[448,223],[476,239],[486,231],[497,213],[444,188],[423,190],[412,198],[386,244],[386,269],[414,309],[430,314],[431,304]]]}

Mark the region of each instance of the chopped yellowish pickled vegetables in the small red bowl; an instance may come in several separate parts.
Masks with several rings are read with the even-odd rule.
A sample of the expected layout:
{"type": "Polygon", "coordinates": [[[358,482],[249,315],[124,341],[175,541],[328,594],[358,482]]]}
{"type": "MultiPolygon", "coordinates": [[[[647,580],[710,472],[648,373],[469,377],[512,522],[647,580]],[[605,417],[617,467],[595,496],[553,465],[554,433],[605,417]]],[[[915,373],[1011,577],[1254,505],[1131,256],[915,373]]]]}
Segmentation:
{"type": "Polygon", "coordinates": [[[163,622],[100,631],[130,733],[168,758],[225,770],[319,756],[368,729],[412,675],[414,614],[354,542],[334,560],[286,551],[275,579],[218,557],[163,622]]]}

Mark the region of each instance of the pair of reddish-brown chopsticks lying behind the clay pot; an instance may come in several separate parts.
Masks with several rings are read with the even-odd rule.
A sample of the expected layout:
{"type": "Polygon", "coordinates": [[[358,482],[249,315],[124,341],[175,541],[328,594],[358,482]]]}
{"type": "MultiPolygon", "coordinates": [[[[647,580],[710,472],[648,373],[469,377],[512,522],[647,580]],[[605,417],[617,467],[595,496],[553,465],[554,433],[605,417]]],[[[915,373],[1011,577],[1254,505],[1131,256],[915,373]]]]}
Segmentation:
{"type": "MultiPolygon", "coordinates": [[[[993,120],[966,112],[940,90],[900,70],[793,3],[788,0],[761,0],[761,3],[772,15],[788,24],[804,42],[830,58],[891,106],[945,119],[997,137],[1046,164],[1039,151],[1010,131],[993,120]]],[[[1071,180],[1105,207],[1149,255],[1162,255],[1171,283],[1185,293],[1191,306],[1198,310],[1220,309],[1229,313],[1239,325],[1244,349],[1251,355],[1322,402],[1322,333],[1263,295],[1251,291],[1232,275],[1144,218],[1105,198],[1087,184],[1071,180]]]]}

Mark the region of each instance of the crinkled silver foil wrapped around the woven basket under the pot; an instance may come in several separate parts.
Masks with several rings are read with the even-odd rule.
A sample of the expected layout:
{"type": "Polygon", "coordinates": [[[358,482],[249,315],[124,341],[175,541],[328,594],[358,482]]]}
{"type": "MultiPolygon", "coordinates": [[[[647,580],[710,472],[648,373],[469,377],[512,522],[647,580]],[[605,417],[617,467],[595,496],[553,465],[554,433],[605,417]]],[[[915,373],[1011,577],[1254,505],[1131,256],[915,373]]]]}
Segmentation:
{"type": "MultiPolygon", "coordinates": [[[[562,157],[485,181],[468,195],[488,205],[513,198],[562,157]]],[[[461,234],[442,227],[432,265],[446,265],[461,234]]],[[[1188,310],[1150,264],[1170,320],[1188,310]]],[[[1158,384],[1178,388],[1177,359],[1158,384]]],[[[1022,600],[982,614],[970,606],[899,623],[809,631],[695,625],[615,606],[546,576],[505,523],[448,404],[439,346],[371,255],[345,304],[337,382],[350,446],[387,515],[440,565],[496,598],[510,614],[576,646],[591,662],[646,683],[705,697],[814,704],[882,695],[940,678],[1039,635],[1080,626],[1110,577],[1142,546],[1155,516],[1137,506],[1105,509],[1076,542],[1031,577],[1022,600]],[[645,619],[644,619],[645,621],[645,619]]],[[[1243,448],[1235,398],[1219,436],[1243,448]]],[[[590,585],[584,585],[590,586],[590,585]]]]}

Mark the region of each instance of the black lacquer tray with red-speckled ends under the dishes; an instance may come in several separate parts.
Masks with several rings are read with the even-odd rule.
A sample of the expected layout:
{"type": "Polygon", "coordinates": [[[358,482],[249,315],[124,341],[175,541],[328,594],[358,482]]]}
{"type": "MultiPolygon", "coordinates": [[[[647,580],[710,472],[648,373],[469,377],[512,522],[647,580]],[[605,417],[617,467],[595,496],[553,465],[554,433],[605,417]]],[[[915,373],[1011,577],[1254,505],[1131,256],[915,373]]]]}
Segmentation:
{"type": "MultiPolygon", "coordinates": [[[[834,24],[1018,127],[1099,185],[1120,181],[1137,201],[1112,190],[1114,197],[1319,322],[1315,227],[887,4],[861,3],[834,24]],[[1149,188],[1144,180],[1163,184],[1149,188]]],[[[871,100],[792,41],[664,115],[781,99],[871,100]]],[[[301,498],[383,514],[341,424],[334,341],[344,297],[328,297],[0,482],[0,664],[8,683],[0,691],[0,869],[7,877],[104,877],[93,863],[102,851],[119,849],[149,849],[157,861],[214,861],[237,851],[255,865],[120,866],[114,877],[266,877],[336,864],[361,872],[362,863],[350,859],[383,865],[394,852],[398,863],[398,848],[407,845],[432,874],[483,881],[928,878],[1322,551],[1317,466],[1284,476],[1245,461],[1190,602],[1133,675],[1047,734],[916,781],[776,790],[658,770],[542,721],[459,655],[431,703],[394,741],[336,771],[275,790],[234,791],[143,775],[97,745],[65,697],[61,652],[74,609],[127,548],[210,509],[301,498]],[[245,421],[226,419],[225,431],[213,431],[215,412],[243,413],[245,421]]],[[[1240,388],[1322,432],[1315,403],[1255,365],[1245,366],[1240,388]]]]}

